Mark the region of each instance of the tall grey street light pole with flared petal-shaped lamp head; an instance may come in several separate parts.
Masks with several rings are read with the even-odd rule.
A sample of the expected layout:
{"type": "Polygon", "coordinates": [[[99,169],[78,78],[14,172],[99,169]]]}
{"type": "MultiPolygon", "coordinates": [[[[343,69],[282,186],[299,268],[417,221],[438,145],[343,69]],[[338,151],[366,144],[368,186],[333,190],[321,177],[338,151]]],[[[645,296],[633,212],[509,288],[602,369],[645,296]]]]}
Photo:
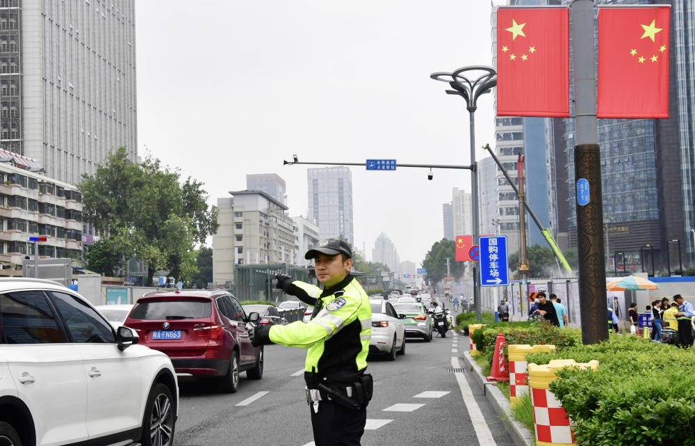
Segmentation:
{"type": "MultiPolygon", "coordinates": [[[[478,244],[480,236],[480,221],[478,218],[478,184],[477,184],[477,162],[475,161],[475,110],[477,109],[477,99],[480,95],[490,93],[492,88],[497,85],[497,72],[492,67],[470,66],[462,67],[454,72],[436,72],[430,74],[436,81],[449,84],[453,90],[446,90],[448,95],[457,95],[466,99],[466,109],[468,110],[469,122],[471,125],[471,207],[473,216],[473,245],[478,244]],[[477,79],[468,79],[465,74],[469,72],[484,72],[477,79]]],[[[477,277],[477,268],[473,263],[473,301],[475,302],[475,316],[480,321],[481,302],[480,302],[480,279],[477,277]]]]}

